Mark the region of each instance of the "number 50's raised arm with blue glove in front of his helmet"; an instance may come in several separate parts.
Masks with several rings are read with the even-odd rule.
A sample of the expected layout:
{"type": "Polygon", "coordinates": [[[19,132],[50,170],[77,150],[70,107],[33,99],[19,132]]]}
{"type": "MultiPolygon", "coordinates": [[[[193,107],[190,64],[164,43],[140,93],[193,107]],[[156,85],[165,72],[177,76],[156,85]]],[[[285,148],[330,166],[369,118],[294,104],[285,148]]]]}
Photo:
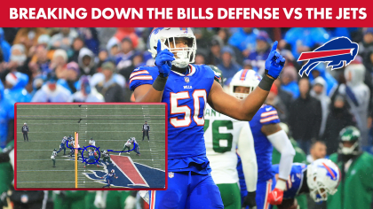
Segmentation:
{"type": "Polygon", "coordinates": [[[159,75],[153,85],[141,85],[134,90],[136,102],[159,103],[162,101],[163,89],[171,72],[171,62],[175,58],[169,50],[161,50],[161,48],[161,41],[158,40],[155,66],[158,67],[159,75]]]}

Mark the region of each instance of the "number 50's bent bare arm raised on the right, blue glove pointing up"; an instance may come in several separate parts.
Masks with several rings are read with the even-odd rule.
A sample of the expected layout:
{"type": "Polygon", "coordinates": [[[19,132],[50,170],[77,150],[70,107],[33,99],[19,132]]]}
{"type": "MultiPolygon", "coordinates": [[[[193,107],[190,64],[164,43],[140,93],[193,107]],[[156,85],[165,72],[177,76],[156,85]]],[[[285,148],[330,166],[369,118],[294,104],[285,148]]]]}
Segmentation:
{"type": "Polygon", "coordinates": [[[251,120],[258,112],[260,106],[266,101],[269,90],[282,72],[285,58],[276,51],[277,41],[274,42],[272,50],[266,58],[266,74],[259,82],[258,88],[254,89],[248,97],[239,100],[226,94],[217,81],[212,84],[208,102],[216,111],[224,113],[236,120],[251,120]]]}

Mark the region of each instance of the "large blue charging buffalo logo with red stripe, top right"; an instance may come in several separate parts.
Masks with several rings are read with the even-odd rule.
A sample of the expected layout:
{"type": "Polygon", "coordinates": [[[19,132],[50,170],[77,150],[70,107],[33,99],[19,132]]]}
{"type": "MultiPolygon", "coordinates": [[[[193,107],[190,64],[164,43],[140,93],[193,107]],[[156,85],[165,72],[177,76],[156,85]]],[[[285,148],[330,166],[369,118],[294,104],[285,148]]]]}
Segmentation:
{"type": "Polygon", "coordinates": [[[359,45],[351,42],[347,37],[330,40],[316,50],[303,52],[299,56],[298,61],[308,60],[306,65],[300,69],[299,75],[310,74],[313,68],[321,62],[328,63],[332,70],[341,68],[344,64],[347,66],[356,58],[358,50],[359,45]]]}

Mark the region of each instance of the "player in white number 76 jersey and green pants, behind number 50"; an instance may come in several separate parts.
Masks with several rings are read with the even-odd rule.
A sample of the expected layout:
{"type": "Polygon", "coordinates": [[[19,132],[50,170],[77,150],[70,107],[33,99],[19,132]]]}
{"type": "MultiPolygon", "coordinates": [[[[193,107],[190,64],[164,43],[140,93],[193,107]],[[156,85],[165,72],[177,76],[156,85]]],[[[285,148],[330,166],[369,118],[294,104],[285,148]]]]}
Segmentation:
{"type": "MultiPolygon", "coordinates": [[[[216,66],[210,66],[218,74],[216,66]]],[[[222,85],[223,77],[218,82],[222,85]]],[[[241,209],[241,193],[238,185],[236,147],[240,153],[248,195],[243,205],[256,206],[258,166],[254,151],[254,139],[247,121],[234,120],[214,111],[207,104],[204,114],[204,141],[206,156],[210,160],[211,176],[218,185],[226,209],[241,209]],[[223,128],[223,129],[222,129],[223,128]]]]}

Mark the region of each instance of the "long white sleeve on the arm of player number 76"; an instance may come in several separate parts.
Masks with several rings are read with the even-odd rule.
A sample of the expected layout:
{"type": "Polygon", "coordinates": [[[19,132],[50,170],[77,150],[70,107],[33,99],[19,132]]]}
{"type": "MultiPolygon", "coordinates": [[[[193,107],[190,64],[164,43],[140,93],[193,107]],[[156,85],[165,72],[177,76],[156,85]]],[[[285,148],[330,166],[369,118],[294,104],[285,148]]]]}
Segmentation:
{"type": "Polygon", "coordinates": [[[257,190],[258,164],[254,149],[254,138],[252,137],[249,122],[242,127],[238,138],[238,152],[242,160],[242,170],[245,175],[246,188],[248,191],[257,190]]]}

